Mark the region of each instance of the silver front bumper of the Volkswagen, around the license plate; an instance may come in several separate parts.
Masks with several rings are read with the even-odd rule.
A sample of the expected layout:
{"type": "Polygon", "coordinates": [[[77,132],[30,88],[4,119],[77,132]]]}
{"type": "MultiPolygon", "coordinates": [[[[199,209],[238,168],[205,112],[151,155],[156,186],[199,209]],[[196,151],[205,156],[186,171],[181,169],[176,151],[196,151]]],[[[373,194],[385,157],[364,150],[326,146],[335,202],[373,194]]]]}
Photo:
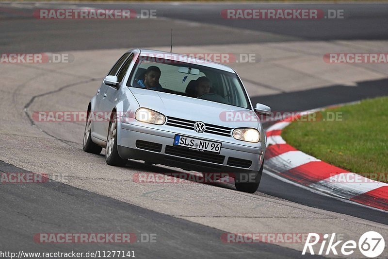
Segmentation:
{"type": "Polygon", "coordinates": [[[197,133],[194,130],[167,125],[159,126],[138,121],[129,123],[119,121],[117,124],[118,153],[122,158],[144,160],[148,163],[178,167],[188,171],[211,173],[259,171],[264,159],[265,143],[244,144],[230,137],[197,133]],[[209,153],[174,147],[173,141],[176,134],[221,142],[220,154],[210,153],[209,155],[209,153]],[[139,141],[160,144],[160,150],[146,150],[144,146],[139,145],[139,141]],[[238,143],[233,143],[237,141],[238,143]]]}

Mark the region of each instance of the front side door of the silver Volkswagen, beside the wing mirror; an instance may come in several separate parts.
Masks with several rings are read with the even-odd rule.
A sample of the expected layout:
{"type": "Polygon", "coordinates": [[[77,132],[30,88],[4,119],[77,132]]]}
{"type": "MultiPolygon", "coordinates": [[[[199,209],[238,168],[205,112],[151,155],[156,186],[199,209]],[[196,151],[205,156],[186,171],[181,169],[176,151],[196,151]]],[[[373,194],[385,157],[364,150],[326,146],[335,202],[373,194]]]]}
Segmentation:
{"type": "MultiPolygon", "coordinates": [[[[102,131],[104,132],[104,138],[105,138],[104,140],[106,140],[108,135],[109,122],[111,119],[110,112],[113,110],[116,104],[121,101],[122,91],[120,91],[120,87],[125,86],[125,84],[122,81],[128,71],[128,68],[130,63],[132,62],[132,59],[133,59],[133,53],[129,53],[123,65],[116,73],[118,84],[116,86],[107,86],[106,91],[103,94],[101,108],[102,110],[106,111],[104,112],[105,120],[102,123],[102,131]]],[[[117,112],[122,112],[122,111],[117,111],[117,112]]]]}

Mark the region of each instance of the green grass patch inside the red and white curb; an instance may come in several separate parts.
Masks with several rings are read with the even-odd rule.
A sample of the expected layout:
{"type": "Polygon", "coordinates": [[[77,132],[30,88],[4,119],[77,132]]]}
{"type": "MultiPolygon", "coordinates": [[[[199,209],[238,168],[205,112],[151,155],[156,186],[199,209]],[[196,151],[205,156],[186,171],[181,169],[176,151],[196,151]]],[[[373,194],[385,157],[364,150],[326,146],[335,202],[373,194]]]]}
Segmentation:
{"type": "MultiPolygon", "coordinates": [[[[282,131],[291,146],[354,173],[388,173],[388,97],[329,109],[338,121],[294,121],[282,131]]],[[[374,174],[375,175],[375,174],[374,174]]],[[[372,177],[374,180],[375,176],[372,177]]],[[[387,179],[388,180],[388,179],[387,179]]]]}

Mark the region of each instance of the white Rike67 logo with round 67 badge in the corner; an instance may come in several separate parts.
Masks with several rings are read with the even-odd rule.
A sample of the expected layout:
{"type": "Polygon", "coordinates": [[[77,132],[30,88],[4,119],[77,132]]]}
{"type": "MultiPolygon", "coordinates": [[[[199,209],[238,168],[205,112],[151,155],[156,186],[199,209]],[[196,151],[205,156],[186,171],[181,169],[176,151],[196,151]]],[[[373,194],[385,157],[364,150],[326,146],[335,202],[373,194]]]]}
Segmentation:
{"type": "MultiPolygon", "coordinates": [[[[336,233],[332,233],[330,238],[329,234],[324,234],[323,240],[320,240],[320,237],[322,237],[322,235],[320,236],[316,233],[308,233],[305,246],[303,247],[302,255],[306,254],[307,249],[311,255],[314,255],[315,253],[313,246],[317,243],[321,244],[318,255],[323,255],[326,242],[328,242],[328,244],[324,255],[329,255],[330,253],[333,253],[333,255],[338,255],[336,249],[339,249],[342,255],[349,256],[353,254],[357,248],[357,243],[354,240],[346,241],[342,243],[342,245],[339,245],[341,242],[343,242],[342,240],[334,242],[336,233]]],[[[383,236],[375,231],[368,231],[362,234],[358,240],[358,249],[365,257],[368,258],[378,257],[381,255],[381,253],[383,253],[384,248],[385,242],[383,236]]]]}

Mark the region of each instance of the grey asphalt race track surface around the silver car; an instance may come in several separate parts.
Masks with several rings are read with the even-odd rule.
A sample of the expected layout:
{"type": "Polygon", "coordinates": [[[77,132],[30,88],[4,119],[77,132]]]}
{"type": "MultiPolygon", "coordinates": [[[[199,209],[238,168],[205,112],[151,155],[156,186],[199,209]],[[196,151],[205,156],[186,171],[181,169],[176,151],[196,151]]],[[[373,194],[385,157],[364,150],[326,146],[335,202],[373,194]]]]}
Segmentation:
{"type": "MultiPolygon", "coordinates": [[[[125,250],[134,251],[137,258],[307,258],[301,255],[303,243],[229,244],[222,242],[222,233],[337,232],[346,240],[358,240],[361,234],[373,230],[388,238],[386,212],[314,193],[268,173],[264,173],[254,194],[238,192],[227,183],[136,183],[134,173],[175,169],[132,160],[124,168],[110,167],[104,152],[92,155],[82,151],[84,122],[32,120],[34,111],[85,110],[106,71],[122,52],[134,47],[169,50],[171,28],[173,51],[177,52],[226,52],[230,48],[229,52],[247,53],[259,48],[261,60],[257,64],[230,66],[241,73],[252,103],[269,105],[274,111],[301,111],[385,96],[387,64],[341,67],[338,74],[332,67],[322,74],[309,71],[306,67],[313,66],[306,64],[322,61],[318,49],[388,52],[387,13],[385,3],[129,6],[0,2],[1,53],[61,52],[74,57],[74,62],[68,64],[0,63],[0,172],[65,175],[65,180],[54,178],[41,185],[0,184],[0,251],[125,250]],[[158,17],[32,17],[35,9],[66,5],[156,9],[158,17]],[[343,9],[345,15],[344,19],[332,20],[226,20],[220,12],[227,8],[343,9]],[[298,67],[303,63],[300,61],[305,67],[298,67]],[[250,69],[252,66],[256,67],[250,69]],[[293,82],[277,78],[274,71],[290,73],[293,82]],[[336,76],[346,80],[333,79],[336,76]],[[136,233],[137,237],[155,233],[157,239],[129,246],[33,241],[36,233],[124,232],[136,233]]],[[[264,171],[271,172],[271,168],[264,171]]],[[[387,257],[387,253],[383,255],[387,257]]],[[[363,258],[360,253],[354,257],[363,258]]]]}

